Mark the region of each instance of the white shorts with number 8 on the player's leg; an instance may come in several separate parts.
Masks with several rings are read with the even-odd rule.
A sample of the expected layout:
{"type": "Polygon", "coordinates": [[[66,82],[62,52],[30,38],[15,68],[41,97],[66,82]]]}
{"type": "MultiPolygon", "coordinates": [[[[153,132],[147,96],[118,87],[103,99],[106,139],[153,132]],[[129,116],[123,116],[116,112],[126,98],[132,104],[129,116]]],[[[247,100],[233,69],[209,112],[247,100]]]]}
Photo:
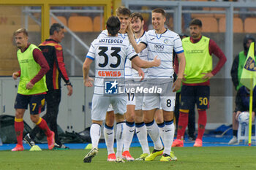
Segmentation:
{"type": "MultiPolygon", "coordinates": [[[[162,93],[145,94],[143,98],[143,110],[163,109],[165,111],[173,111],[175,106],[176,92],[172,90],[173,82],[163,83],[160,86],[162,93]]],[[[151,85],[153,86],[153,85],[151,85]]]]}

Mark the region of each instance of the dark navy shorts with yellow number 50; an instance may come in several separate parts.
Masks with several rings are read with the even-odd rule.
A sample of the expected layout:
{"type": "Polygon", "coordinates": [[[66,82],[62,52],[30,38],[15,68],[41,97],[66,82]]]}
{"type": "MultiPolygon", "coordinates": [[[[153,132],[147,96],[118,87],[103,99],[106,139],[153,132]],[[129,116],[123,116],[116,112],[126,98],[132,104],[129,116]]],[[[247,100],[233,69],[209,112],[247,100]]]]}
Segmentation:
{"type": "Polygon", "coordinates": [[[180,109],[208,109],[210,87],[208,85],[182,85],[180,109]]]}

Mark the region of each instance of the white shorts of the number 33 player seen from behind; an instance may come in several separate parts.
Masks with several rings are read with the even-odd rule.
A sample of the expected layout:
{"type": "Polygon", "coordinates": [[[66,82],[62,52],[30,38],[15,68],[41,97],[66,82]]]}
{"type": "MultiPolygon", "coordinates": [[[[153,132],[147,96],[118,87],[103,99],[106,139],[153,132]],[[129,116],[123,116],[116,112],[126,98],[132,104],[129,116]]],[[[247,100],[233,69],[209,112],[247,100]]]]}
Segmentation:
{"type": "Polygon", "coordinates": [[[91,120],[105,120],[110,104],[115,114],[124,115],[127,112],[127,98],[125,96],[94,95],[92,97],[91,120]]]}

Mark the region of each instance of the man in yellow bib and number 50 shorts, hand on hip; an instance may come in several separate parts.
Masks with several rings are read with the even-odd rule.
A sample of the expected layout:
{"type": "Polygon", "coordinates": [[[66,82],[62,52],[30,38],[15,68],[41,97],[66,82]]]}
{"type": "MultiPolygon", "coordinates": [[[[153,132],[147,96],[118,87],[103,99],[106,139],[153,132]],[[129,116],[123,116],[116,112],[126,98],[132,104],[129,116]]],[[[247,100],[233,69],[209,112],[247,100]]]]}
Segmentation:
{"type": "Polygon", "coordinates": [[[206,128],[206,109],[209,106],[210,82],[227,61],[225,54],[217,44],[206,36],[202,36],[202,22],[194,19],[189,23],[190,36],[182,39],[186,68],[183,86],[181,88],[180,114],[178,117],[177,139],[173,147],[183,147],[181,140],[187,128],[189,109],[197,104],[198,132],[194,147],[203,146],[203,134],[206,128]],[[219,58],[219,62],[212,69],[212,54],[219,58]]]}

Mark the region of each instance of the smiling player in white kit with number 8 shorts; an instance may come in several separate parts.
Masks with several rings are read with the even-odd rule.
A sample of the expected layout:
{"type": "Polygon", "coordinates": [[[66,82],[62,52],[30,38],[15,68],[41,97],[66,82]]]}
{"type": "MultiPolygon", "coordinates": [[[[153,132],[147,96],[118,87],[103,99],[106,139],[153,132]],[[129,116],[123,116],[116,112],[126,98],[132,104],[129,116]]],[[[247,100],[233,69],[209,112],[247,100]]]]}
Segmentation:
{"type": "Polygon", "coordinates": [[[154,151],[145,158],[145,161],[153,161],[158,155],[162,155],[160,161],[174,161],[177,159],[173,152],[171,152],[175,131],[173,125],[174,91],[181,87],[186,61],[180,37],[175,32],[165,28],[165,20],[165,10],[160,8],[154,9],[152,11],[154,30],[148,31],[145,39],[142,39],[139,45],[135,42],[131,29],[127,30],[129,40],[136,53],[140,53],[141,50],[147,47],[148,61],[151,61],[154,55],[159,56],[162,61],[160,66],[148,69],[147,80],[147,85],[149,86],[162,87],[162,93],[151,94],[143,98],[143,120],[146,123],[148,134],[154,142],[154,151]],[[180,61],[176,82],[173,82],[173,50],[177,53],[180,61]],[[163,127],[165,129],[163,139],[165,148],[162,146],[159,138],[159,128],[154,122],[154,113],[159,108],[159,105],[163,109],[165,120],[165,126],[163,127]]]}

